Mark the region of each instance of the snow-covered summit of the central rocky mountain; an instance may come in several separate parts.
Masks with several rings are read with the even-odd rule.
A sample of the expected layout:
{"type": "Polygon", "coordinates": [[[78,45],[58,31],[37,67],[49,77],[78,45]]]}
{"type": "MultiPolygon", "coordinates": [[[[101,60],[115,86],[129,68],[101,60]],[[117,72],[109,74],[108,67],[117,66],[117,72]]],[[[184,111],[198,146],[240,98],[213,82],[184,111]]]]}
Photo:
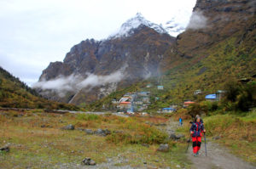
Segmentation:
{"type": "Polygon", "coordinates": [[[130,20],[127,20],[123,25],[121,25],[119,31],[115,33],[113,36],[111,36],[111,38],[129,37],[133,34],[133,30],[136,29],[139,25],[146,25],[159,33],[168,33],[161,25],[154,24],[149,20],[146,20],[143,17],[143,14],[137,13],[135,17],[131,18],[130,20]]]}

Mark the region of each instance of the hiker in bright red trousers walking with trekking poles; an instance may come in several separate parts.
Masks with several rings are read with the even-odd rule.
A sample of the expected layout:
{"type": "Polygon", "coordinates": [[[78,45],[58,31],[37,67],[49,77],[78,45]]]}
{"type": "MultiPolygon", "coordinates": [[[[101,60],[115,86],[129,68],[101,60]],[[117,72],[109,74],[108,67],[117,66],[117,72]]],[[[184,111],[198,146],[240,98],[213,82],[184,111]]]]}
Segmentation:
{"type": "Polygon", "coordinates": [[[190,127],[190,134],[192,136],[194,156],[199,155],[199,150],[201,148],[201,137],[202,137],[201,132],[206,132],[206,129],[204,127],[204,124],[201,121],[200,116],[198,115],[196,116],[195,121],[192,123],[192,126],[190,127]]]}

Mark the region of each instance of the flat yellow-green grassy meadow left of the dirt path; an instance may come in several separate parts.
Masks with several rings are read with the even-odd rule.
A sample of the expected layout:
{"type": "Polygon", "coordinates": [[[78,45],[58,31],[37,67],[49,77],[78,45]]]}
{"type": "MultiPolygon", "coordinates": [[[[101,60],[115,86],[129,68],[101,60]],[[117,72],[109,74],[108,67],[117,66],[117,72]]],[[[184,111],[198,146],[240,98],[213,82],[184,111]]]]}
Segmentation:
{"type": "Polygon", "coordinates": [[[158,152],[156,140],[165,142],[156,127],[146,124],[166,121],[163,117],[118,117],[115,115],[57,115],[32,112],[2,112],[0,115],[0,146],[10,143],[9,153],[0,153],[0,168],[51,168],[60,163],[74,163],[76,166],[89,156],[97,164],[115,159],[115,166],[147,166],[177,168],[189,167],[184,155],[185,144],[167,141],[171,146],[168,153],[158,152]],[[20,116],[23,115],[23,116],[20,116]],[[111,134],[108,137],[86,135],[85,132],[65,131],[61,127],[73,124],[76,128],[108,128],[122,131],[124,137],[111,134]],[[131,125],[132,124],[132,125],[131,125]],[[45,127],[42,128],[41,126],[45,127]],[[125,133],[130,136],[125,137],[125,133]],[[152,139],[154,138],[154,139],[152,139]],[[140,142],[134,142],[141,140],[140,142]],[[151,141],[150,141],[151,140],[151,141]],[[155,140],[155,141],[152,141],[155,140]],[[118,142],[118,143],[116,143],[118,142]],[[142,143],[148,143],[145,147],[142,143]],[[125,162],[120,163],[119,158],[125,162]],[[158,161],[156,161],[158,160],[158,161]]]}

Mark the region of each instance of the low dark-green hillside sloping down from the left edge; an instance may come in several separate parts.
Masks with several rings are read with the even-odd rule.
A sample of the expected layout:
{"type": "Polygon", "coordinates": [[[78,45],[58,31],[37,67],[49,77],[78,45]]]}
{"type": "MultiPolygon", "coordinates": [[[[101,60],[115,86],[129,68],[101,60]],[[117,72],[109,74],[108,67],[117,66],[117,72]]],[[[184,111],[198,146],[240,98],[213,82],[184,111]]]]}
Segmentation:
{"type": "Polygon", "coordinates": [[[78,110],[71,104],[60,104],[43,99],[19,78],[0,67],[0,107],[32,109],[78,110]]]}

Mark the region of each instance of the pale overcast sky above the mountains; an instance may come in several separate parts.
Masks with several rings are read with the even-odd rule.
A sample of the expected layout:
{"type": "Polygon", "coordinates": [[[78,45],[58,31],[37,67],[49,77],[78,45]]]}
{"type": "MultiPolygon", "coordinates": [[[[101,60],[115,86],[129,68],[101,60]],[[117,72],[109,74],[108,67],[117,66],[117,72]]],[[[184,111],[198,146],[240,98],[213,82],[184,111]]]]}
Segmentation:
{"type": "Polygon", "coordinates": [[[137,12],[187,25],[196,0],[0,0],[0,66],[31,85],[86,38],[101,40],[137,12]]]}

